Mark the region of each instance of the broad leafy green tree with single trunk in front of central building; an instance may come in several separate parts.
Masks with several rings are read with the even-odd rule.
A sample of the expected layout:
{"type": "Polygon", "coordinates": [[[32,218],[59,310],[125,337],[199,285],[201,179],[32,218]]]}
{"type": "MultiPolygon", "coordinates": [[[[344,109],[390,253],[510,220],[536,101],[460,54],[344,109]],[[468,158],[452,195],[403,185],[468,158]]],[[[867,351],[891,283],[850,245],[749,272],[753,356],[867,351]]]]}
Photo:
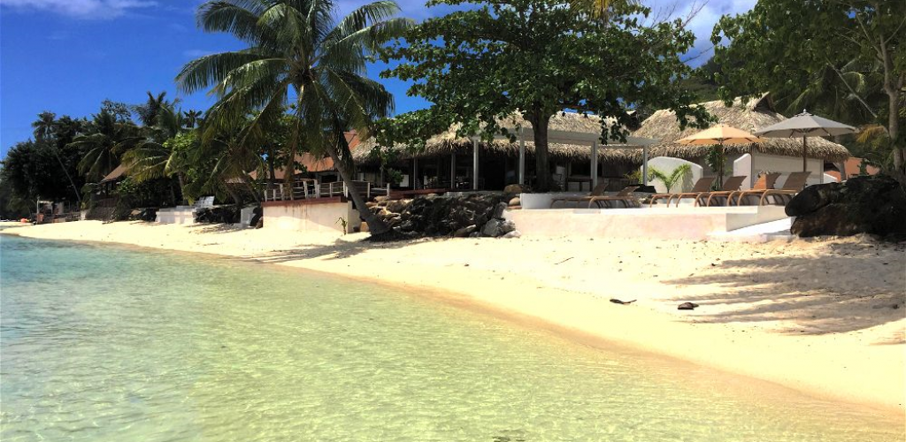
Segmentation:
{"type": "Polygon", "coordinates": [[[650,9],[634,2],[605,2],[604,15],[587,3],[430,0],[469,7],[412,28],[383,54],[401,63],[381,75],[415,82],[409,94],[432,103],[407,117],[421,137],[431,135],[425,127],[458,122],[458,135],[490,139],[507,134],[500,120],[521,113],[533,127],[540,191],[552,185],[547,132],[556,112],[612,117],[602,119],[603,139],[625,137],[630,111],[645,104],[676,111],[683,128],[690,118],[704,126],[707,113],[679,87],[691,71],[679,54],[695,40],[682,22],[643,24],[650,9]]]}

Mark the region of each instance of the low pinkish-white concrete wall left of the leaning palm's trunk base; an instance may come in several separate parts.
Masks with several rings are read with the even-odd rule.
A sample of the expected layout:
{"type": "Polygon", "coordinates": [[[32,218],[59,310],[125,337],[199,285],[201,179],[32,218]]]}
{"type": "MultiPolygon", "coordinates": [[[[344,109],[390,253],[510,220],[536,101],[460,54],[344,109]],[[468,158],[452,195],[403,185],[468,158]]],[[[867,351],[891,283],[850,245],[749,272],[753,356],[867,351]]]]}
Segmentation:
{"type": "Polygon", "coordinates": [[[350,232],[361,225],[359,211],[352,208],[352,202],[310,204],[288,201],[264,207],[265,228],[268,229],[342,233],[342,224],[338,222],[341,217],[346,220],[350,232]]]}

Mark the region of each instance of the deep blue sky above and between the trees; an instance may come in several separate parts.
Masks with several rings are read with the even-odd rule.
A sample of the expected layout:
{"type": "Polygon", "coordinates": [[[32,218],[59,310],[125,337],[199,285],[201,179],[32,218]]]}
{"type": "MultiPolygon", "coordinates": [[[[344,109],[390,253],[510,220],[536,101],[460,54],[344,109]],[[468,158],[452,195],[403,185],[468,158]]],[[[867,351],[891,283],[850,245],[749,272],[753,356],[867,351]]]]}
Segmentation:
{"type": "MultiPolygon", "coordinates": [[[[398,0],[402,14],[424,19],[442,10],[423,0],[398,0]]],[[[684,15],[693,0],[643,0],[656,10],[684,15]],[[673,6],[676,6],[675,8],[673,6]]],[[[699,35],[698,50],[710,47],[711,27],[721,14],[747,11],[756,0],[709,0],[689,27],[699,35]]],[[[195,27],[200,0],[0,0],[0,156],[29,139],[41,111],[58,116],[90,116],[101,101],[144,101],[146,91],[179,96],[184,109],[205,110],[204,93],[180,96],[173,78],[189,60],[242,47],[225,34],[195,27]]],[[[364,4],[340,0],[341,13],[364,4]]],[[[707,60],[707,55],[692,63],[707,60]]],[[[377,78],[380,68],[371,69],[377,78]]],[[[383,81],[397,111],[426,106],[405,95],[406,84],[383,81]]]]}

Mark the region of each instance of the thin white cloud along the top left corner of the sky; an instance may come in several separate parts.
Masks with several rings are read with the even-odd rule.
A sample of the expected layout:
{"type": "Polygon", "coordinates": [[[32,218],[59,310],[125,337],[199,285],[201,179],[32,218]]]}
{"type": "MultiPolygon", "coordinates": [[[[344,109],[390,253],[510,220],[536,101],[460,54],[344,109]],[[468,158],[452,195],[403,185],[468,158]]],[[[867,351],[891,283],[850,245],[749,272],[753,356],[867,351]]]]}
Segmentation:
{"type": "Polygon", "coordinates": [[[131,9],[158,5],[152,0],[0,0],[0,6],[17,11],[63,14],[80,19],[106,19],[131,9]]]}

